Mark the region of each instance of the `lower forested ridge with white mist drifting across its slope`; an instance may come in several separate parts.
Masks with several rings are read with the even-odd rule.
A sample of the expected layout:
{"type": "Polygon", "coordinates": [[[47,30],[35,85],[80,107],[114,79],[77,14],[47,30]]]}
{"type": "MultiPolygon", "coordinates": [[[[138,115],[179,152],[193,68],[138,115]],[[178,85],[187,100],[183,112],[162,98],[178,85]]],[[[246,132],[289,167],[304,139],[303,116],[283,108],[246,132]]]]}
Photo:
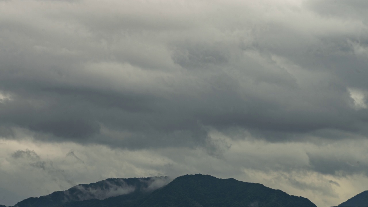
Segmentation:
{"type": "Polygon", "coordinates": [[[65,203],[103,200],[121,195],[143,195],[166,185],[170,181],[169,177],[109,178],[96,183],[80,184],[46,196],[31,197],[18,202],[14,207],[53,207],[65,203]]]}

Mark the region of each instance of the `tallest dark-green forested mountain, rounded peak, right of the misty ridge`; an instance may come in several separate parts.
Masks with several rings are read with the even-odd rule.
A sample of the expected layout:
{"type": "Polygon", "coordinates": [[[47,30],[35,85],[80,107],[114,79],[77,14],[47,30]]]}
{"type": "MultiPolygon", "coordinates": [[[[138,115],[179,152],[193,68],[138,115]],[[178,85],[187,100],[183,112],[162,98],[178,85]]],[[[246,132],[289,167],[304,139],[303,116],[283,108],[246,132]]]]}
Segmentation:
{"type": "Polygon", "coordinates": [[[185,175],[156,190],[140,207],[316,207],[303,197],[290,196],[262,184],[185,175]]]}

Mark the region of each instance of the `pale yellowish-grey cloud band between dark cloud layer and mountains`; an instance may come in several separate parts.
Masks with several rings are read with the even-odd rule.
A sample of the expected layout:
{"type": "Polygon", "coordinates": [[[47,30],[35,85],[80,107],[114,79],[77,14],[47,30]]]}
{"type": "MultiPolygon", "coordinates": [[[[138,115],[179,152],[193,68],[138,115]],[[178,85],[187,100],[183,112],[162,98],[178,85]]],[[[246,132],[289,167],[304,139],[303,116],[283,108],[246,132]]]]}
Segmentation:
{"type": "MultiPolygon", "coordinates": [[[[318,206],[334,206],[364,190],[365,185],[361,184],[368,183],[365,170],[342,168],[336,164],[338,160],[341,163],[349,161],[350,164],[354,164],[351,161],[355,161],[355,164],[358,164],[358,160],[359,164],[365,166],[364,158],[367,156],[368,145],[366,140],[339,140],[335,144],[329,141],[318,144],[269,143],[252,138],[233,140],[212,130],[209,135],[213,142],[219,142],[217,147],[221,147],[221,143],[226,143],[222,146],[226,150],[223,150],[221,155],[211,154],[200,147],[121,150],[98,144],[83,145],[72,142],[24,143],[22,145],[26,144],[34,150],[11,151],[7,147],[18,148],[19,145],[15,144],[18,141],[4,140],[4,144],[0,145],[2,150],[0,175],[4,178],[0,181],[0,186],[3,186],[0,190],[5,188],[8,192],[15,189],[17,191],[8,197],[8,201],[3,199],[3,203],[14,205],[27,197],[66,190],[75,186],[75,183],[91,183],[111,177],[169,175],[175,178],[183,174],[201,172],[219,178],[232,177],[246,182],[262,183],[289,194],[308,197],[318,206]],[[231,147],[227,148],[228,145],[231,147]],[[70,150],[71,148],[73,150],[70,150]],[[336,163],[329,162],[331,159],[335,159],[336,163]],[[321,160],[321,165],[328,164],[328,166],[319,166],[316,160],[321,160]],[[39,164],[42,163],[45,169],[40,167],[39,164]],[[326,168],[329,168],[329,171],[324,172],[323,169],[326,168]],[[345,173],[340,173],[340,169],[345,173]],[[7,184],[14,179],[13,177],[17,178],[19,187],[17,183],[7,184]],[[355,187],[357,183],[362,187],[355,187]],[[347,191],[349,193],[346,193],[347,191]]],[[[170,179],[156,178],[145,183],[149,186],[147,190],[153,190],[166,185],[167,182],[170,182],[170,179]]],[[[95,194],[92,192],[99,192],[97,194],[103,196],[106,192],[110,192],[99,189],[85,189],[86,195],[93,196],[95,194]]],[[[112,190],[112,192],[120,191],[112,190]]]]}

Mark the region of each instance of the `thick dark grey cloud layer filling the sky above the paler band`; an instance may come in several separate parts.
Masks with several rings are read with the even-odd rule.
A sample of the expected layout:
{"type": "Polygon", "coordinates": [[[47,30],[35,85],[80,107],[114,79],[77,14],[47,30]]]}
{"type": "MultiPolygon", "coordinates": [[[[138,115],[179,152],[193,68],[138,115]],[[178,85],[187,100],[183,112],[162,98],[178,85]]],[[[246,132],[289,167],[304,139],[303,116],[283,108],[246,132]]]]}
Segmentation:
{"type": "MultiPolygon", "coordinates": [[[[7,138],[25,129],[42,141],[202,147],[222,158],[231,146],[214,140],[213,130],[274,143],[368,135],[366,16],[335,15],[363,1],[275,3],[275,10],[40,2],[1,3],[0,98],[8,98],[0,99],[0,134],[7,138]]],[[[363,169],[309,159],[325,174],[363,169]]]]}

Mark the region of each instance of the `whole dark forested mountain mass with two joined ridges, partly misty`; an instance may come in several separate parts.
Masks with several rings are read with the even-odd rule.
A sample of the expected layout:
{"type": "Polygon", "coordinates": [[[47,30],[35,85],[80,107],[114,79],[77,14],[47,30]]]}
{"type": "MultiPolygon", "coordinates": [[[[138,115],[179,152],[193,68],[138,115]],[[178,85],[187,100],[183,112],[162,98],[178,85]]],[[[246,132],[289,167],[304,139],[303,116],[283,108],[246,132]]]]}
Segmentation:
{"type": "Polygon", "coordinates": [[[60,204],[64,207],[316,207],[304,197],[232,178],[184,175],[165,185],[168,180],[167,177],[107,179],[29,198],[14,207],[60,204]],[[120,193],[113,193],[116,190],[120,193]]]}

